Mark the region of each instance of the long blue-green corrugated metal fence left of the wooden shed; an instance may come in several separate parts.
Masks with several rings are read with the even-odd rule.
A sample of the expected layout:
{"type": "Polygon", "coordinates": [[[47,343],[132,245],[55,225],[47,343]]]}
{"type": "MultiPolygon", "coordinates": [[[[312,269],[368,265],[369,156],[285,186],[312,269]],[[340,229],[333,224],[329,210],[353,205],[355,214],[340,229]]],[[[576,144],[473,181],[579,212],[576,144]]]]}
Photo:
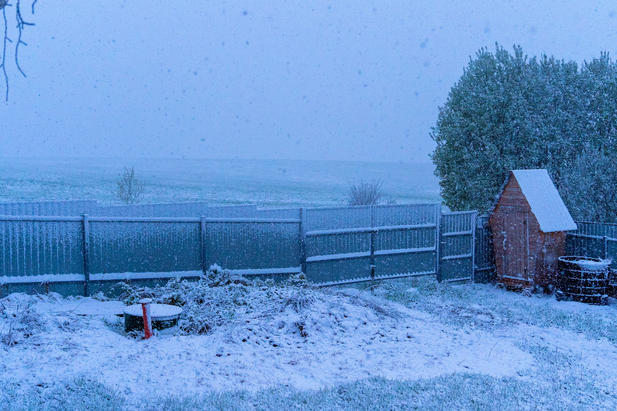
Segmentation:
{"type": "MultiPolygon", "coordinates": [[[[67,210],[41,203],[46,204],[12,210],[67,210]]],[[[82,210],[88,202],[73,205],[82,210]]],[[[100,211],[97,207],[91,210],[100,211]]],[[[111,214],[122,215],[0,216],[0,295],[89,295],[118,280],[154,285],[178,276],[198,278],[211,264],[268,278],[303,271],[320,285],[428,274],[486,282],[494,268],[482,218],[475,211],[442,214],[439,203],[275,210],[204,208],[198,201],[110,207],[122,210],[111,214]],[[197,212],[203,214],[194,216],[197,212]]]]}

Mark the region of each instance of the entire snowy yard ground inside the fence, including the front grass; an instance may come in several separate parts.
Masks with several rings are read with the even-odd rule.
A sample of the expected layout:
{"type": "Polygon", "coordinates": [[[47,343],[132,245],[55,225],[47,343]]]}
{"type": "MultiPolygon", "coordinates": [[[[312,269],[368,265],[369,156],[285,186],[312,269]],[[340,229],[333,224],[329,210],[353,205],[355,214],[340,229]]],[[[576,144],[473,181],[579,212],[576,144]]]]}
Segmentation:
{"type": "Polygon", "coordinates": [[[615,304],[431,278],[242,287],[216,287],[233,298],[211,332],[152,340],[77,315],[91,299],[9,296],[32,332],[0,348],[0,409],[617,409],[615,304]]]}

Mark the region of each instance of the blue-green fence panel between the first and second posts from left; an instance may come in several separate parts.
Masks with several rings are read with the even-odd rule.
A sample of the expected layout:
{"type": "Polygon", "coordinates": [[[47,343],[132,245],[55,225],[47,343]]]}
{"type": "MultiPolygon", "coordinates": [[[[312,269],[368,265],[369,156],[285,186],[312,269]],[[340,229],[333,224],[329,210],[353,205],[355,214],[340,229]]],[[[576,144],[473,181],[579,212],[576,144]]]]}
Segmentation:
{"type": "Polygon", "coordinates": [[[199,222],[92,218],[89,241],[90,272],[103,280],[110,273],[201,270],[199,222]]]}

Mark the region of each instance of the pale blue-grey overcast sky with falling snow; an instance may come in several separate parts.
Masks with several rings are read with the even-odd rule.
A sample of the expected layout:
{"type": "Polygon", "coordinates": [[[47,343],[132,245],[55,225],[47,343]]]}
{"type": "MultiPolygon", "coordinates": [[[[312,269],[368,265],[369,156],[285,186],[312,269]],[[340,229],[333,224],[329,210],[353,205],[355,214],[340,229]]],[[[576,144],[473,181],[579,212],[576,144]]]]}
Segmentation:
{"type": "Polygon", "coordinates": [[[479,47],[617,52],[615,1],[39,0],[26,19],[0,157],[429,162],[479,47]]]}

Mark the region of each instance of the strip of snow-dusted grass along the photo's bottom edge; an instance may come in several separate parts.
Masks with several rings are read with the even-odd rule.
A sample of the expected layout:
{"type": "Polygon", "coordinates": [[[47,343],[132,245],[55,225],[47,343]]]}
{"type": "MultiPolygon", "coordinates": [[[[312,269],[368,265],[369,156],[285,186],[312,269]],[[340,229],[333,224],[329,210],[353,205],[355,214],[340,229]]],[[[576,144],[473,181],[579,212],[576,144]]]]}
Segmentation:
{"type": "MultiPolygon", "coordinates": [[[[564,359],[538,351],[555,368],[564,359]]],[[[597,388],[584,373],[552,374],[549,384],[479,373],[453,373],[420,380],[370,378],[318,390],[273,386],[249,391],[223,391],[194,396],[143,397],[127,404],[113,386],[78,377],[53,389],[37,388],[17,396],[12,385],[0,385],[1,411],[97,410],[615,410],[615,398],[597,388]]]]}

